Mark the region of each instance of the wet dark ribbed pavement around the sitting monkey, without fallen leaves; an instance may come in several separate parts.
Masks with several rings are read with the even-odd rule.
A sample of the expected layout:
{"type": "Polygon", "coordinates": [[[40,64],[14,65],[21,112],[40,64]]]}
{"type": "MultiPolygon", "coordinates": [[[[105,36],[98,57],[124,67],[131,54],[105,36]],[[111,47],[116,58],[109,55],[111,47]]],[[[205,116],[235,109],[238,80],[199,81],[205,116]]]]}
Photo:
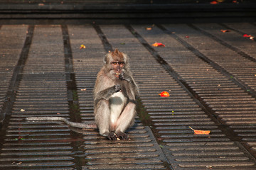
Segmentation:
{"type": "Polygon", "coordinates": [[[256,169],[255,28],[1,25],[1,169],[256,169]],[[25,120],[93,122],[96,74],[114,48],[129,55],[140,89],[129,140],[25,120]],[[162,91],[170,96],[161,98],[162,91]]]}

